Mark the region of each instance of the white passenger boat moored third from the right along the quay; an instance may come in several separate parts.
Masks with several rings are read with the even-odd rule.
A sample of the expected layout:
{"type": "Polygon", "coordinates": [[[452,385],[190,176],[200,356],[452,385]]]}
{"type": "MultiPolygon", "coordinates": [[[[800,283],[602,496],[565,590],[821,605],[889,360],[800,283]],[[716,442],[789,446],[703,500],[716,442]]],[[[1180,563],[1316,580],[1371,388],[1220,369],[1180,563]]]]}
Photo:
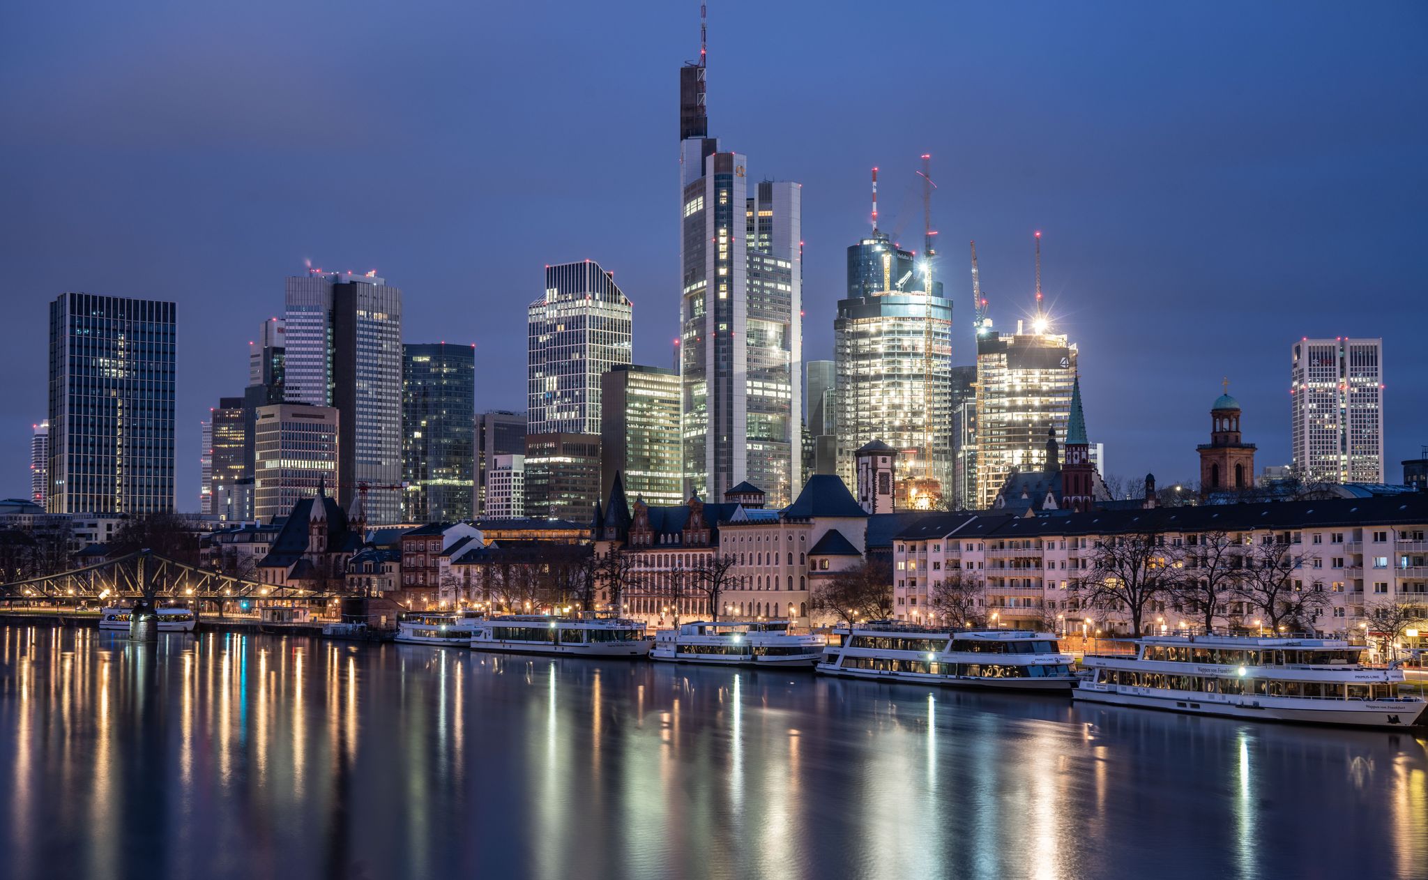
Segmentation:
{"type": "Polygon", "coordinates": [[[823,636],[788,631],[788,621],[694,621],[654,637],[653,660],[723,666],[810,667],[823,656],[823,636]]]}

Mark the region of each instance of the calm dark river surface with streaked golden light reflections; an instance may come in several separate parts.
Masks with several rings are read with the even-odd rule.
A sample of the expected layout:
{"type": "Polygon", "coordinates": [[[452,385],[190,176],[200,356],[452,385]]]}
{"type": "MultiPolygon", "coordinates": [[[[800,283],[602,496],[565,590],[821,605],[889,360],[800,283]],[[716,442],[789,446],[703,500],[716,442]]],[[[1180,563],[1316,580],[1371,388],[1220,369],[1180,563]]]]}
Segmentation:
{"type": "Polygon", "coordinates": [[[4,877],[1425,877],[1405,733],[0,629],[4,877]]]}

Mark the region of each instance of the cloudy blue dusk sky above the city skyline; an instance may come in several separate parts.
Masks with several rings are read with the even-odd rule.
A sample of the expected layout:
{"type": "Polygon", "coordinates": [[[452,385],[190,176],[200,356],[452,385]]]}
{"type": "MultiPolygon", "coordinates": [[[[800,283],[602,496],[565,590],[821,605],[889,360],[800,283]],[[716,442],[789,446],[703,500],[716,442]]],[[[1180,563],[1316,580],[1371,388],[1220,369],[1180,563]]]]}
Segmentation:
{"type": "MultiPolygon", "coordinates": [[[[613,270],[635,360],[668,366],[697,1],[218,6],[0,13],[0,497],[29,490],[66,290],[178,303],[180,510],[198,423],[308,259],[403,287],[406,341],[476,343],[478,410],[524,409],[545,263],[613,270]]],[[[1288,463],[1292,340],[1381,336],[1398,481],[1428,444],[1425,39],[1422,3],[714,0],[710,129],[804,184],[807,359],[833,357],[868,169],[920,247],[930,151],[955,360],[967,241],[1008,327],[1042,230],[1112,474],[1192,479],[1225,374],[1258,466],[1288,463]]]]}

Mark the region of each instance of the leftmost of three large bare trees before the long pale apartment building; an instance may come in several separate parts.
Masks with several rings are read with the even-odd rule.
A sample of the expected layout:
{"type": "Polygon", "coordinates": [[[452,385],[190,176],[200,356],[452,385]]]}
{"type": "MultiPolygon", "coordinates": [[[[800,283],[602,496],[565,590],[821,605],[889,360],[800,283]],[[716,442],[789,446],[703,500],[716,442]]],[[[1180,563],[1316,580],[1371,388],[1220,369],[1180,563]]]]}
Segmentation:
{"type": "Polygon", "coordinates": [[[1174,551],[1158,531],[1108,537],[1095,547],[1091,570],[1071,581],[1071,590],[1092,607],[1111,606],[1131,619],[1131,634],[1141,634],[1147,611],[1170,596],[1180,569],[1174,551]]]}

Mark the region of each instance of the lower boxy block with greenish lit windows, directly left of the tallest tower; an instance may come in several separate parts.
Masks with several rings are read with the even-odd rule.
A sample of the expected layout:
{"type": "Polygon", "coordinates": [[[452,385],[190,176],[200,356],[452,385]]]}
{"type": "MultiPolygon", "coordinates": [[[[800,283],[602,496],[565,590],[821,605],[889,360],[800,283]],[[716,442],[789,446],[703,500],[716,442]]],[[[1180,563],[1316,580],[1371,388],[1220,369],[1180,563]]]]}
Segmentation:
{"type": "Polygon", "coordinates": [[[600,497],[615,474],[628,497],[647,504],[684,500],[680,469],[680,374],[617,364],[601,377],[600,497]]]}

